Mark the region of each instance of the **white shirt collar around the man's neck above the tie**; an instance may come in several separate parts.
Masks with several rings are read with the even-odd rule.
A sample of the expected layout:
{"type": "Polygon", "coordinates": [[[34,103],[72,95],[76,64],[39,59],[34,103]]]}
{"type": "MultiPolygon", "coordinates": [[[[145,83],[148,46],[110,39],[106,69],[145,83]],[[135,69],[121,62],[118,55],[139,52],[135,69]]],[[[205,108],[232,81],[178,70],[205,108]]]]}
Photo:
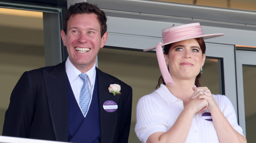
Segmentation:
{"type": "MultiPolygon", "coordinates": [[[[76,67],[71,63],[69,57],[67,58],[65,66],[66,66],[66,72],[67,72],[70,82],[73,82],[75,80],[75,78],[77,78],[78,75],[82,73],[81,71],[77,70],[76,67]]],[[[91,85],[93,85],[95,82],[95,77],[96,77],[95,63],[93,65],[93,67],[85,73],[88,75],[91,85]]]]}

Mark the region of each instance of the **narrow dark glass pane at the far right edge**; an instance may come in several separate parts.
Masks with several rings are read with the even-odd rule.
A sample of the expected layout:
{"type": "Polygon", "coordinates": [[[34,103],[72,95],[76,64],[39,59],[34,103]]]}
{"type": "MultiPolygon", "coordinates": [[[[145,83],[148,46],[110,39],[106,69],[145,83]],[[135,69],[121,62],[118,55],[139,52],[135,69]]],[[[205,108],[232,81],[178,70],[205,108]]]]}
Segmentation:
{"type": "Polygon", "coordinates": [[[256,140],[256,66],[243,65],[245,128],[247,142],[256,140]]]}

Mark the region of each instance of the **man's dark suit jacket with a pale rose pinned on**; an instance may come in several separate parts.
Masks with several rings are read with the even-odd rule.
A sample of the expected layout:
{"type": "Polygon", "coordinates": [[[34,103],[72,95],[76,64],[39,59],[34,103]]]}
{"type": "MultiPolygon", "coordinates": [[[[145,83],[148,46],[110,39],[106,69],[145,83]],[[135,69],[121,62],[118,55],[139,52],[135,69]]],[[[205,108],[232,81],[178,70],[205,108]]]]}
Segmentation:
{"type": "MultiPolygon", "coordinates": [[[[126,143],[131,123],[132,88],[98,68],[96,74],[101,143],[126,143]],[[119,84],[121,94],[110,93],[110,84],[119,84]],[[103,109],[103,103],[108,100],[117,103],[115,112],[103,109]]],[[[11,93],[2,135],[68,141],[65,62],[23,73],[11,93]]]]}

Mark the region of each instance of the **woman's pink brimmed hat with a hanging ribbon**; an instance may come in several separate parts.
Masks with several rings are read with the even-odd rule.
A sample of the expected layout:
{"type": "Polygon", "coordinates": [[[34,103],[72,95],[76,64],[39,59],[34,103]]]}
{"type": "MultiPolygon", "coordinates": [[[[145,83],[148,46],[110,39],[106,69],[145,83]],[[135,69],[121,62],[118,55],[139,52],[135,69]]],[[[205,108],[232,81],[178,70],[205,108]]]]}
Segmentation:
{"type": "Polygon", "coordinates": [[[189,40],[189,39],[195,39],[195,38],[203,38],[205,40],[205,39],[220,37],[223,35],[224,34],[222,33],[203,35],[203,29],[200,23],[183,24],[183,25],[163,29],[162,30],[163,44],[159,42],[157,46],[147,48],[143,51],[150,51],[150,50],[156,49],[158,64],[159,64],[159,68],[160,68],[163,80],[165,84],[173,86],[175,85],[175,83],[172,80],[172,77],[167,69],[162,46],[170,43],[183,41],[183,40],[189,40]]]}

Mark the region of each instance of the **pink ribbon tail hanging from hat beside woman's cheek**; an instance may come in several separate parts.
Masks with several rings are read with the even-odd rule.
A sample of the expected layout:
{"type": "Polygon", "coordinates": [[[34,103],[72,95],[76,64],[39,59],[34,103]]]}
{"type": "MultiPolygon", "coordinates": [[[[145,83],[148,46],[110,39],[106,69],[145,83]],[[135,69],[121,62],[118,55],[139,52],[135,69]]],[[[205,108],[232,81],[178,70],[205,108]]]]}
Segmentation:
{"type": "Polygon", "coordinates": [[[171,85],[174,86],[175,83],[167,69],[165,60],[164,60],[164,56],[163,56],[163,50],[162,50],[162,46],[161,46],[161,42],[159,42],[157,44],[156,47],[156,53],[157,53],[157,60],[158,60],[158,65],[160,68],[160,72],[162,74],[163,80],[165,82],[166,85],[171,85]]]}

